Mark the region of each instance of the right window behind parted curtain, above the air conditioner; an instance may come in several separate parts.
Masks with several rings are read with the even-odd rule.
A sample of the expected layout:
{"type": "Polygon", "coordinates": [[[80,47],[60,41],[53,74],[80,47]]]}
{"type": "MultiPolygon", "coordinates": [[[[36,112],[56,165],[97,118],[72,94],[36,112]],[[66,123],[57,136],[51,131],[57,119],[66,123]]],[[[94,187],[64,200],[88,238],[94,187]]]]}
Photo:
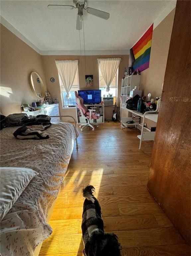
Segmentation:
{"type": "Polygon", "coordinates": [[[106,83],[103,79],[103,76],[100,72],[99,69],[99,88],[101,90],[101,96],[102,97],[107,97],[107,95],[112,94],[112,97],[117,97],[117,88],[118,88],[118,69],[117,72],[113,78],[113,81],[111,82],[110,85],[110,91],[106,92],[106,83]]]}

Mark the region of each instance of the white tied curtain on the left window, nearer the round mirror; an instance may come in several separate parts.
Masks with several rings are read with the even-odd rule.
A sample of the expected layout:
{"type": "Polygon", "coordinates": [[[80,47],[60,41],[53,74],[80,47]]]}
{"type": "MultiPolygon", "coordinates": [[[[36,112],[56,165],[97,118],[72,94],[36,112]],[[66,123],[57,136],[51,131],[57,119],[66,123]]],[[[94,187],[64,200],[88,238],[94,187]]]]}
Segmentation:
{"type": "Polygon", "coordinates": [[[55,61],[58,73],[66,91],[66,98],[69,98],[69,91],[74,82],[78,60],[55,61]]]}

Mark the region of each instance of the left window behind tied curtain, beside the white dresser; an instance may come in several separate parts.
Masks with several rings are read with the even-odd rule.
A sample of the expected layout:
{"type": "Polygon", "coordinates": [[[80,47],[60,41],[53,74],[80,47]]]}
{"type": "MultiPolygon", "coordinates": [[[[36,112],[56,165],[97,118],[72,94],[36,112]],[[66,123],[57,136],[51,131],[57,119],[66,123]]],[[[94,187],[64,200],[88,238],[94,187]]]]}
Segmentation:
{"type": "Polygon", "coordinates": [[[66,91],[64,89],[62,80],[59,76],[59,83],[60,83],[60,89],[61,89],[61,96],[62,96],[62,105],[64,108],[69,108],[69,107],[75,107],[76,106],[76,98],[74,92],[79,90],[79,77],[78,77],[78,68],[76,70],[74,82],[72,85],[72,88],[69,91],[69,98],[66,99],[66,91]]]}

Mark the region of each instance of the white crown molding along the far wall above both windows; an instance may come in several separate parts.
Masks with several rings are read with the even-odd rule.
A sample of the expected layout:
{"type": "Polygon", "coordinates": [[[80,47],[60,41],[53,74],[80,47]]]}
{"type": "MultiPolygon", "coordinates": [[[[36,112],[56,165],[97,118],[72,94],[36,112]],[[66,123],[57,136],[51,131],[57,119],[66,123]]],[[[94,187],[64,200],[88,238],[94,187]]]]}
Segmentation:
{"type": "MultiPolygon", "coordinates": [[[[84,51],[41,51],[41,55],[84,55],[84,51]]],[[[129,55],[129,50],[86,50],[85,55],[129,55]]]]}

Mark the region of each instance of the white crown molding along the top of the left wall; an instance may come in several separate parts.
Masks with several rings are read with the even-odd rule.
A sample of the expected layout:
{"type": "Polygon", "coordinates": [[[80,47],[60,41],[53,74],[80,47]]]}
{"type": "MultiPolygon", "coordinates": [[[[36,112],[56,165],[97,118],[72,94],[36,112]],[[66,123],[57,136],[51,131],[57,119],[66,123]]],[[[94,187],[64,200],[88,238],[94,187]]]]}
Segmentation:
{"type": "Polygon", "coordinates": [[[37,48],[31,41],[29,41],[23,34],[21,34],[15,27],[13,27],[6,19],[4,19],[0,15],[0,23],[5,26],[8,30],[10,30],[14,35],[16,35],[18,38],[20,38],[23,42],[25,42],[27,45],[29,45],[33,50],[41,54],[41,51],[39,48],[37,48]]]}

